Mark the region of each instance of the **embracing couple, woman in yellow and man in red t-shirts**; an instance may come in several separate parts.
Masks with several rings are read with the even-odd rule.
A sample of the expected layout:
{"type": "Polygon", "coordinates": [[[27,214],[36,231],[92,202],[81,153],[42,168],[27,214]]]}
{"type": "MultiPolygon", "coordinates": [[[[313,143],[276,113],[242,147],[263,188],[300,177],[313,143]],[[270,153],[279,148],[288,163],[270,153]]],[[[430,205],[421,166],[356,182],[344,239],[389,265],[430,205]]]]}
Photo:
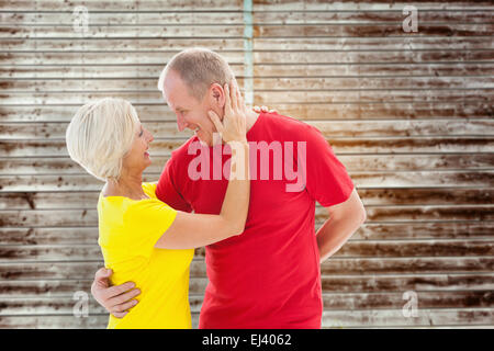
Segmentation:
{"type": "Polygon", "coordinates": [[[88,103],[67,129],[70,157],[105,181],[98,214],[106,269],[92,294],[111,313],[108,327],[191,328],[190,263],[205,246],[200,328],[321,328],[319,264],[366,220],[344,165],[313,126],[247,109],[216,53],[177,54],[158,88],[179,131],[195,133],[157,184],[142,182],[153,136],[128,102],[88,103]],[[302,170],[304,186],[290,188],[299,180],[280,177],[280,162],[302,170]],[[328,216],[317,234],[316,201],[328,216]]]}

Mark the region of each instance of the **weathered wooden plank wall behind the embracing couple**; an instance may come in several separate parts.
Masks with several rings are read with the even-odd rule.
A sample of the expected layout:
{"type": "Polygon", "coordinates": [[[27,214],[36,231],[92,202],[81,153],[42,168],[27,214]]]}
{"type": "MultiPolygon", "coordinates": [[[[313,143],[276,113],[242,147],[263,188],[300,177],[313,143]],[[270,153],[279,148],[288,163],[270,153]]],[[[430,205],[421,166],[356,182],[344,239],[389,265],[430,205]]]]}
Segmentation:
{"type": "MultiPolygon", "coordinates": [[[[323,327],[492,328],[493,13],[490,1],[2,1],[0,327],[105,327],[92,298],[88,317],[72,315],[102,265],[102,183],[70,161],[65,128],[88,99],[128,99],[155,135],[157,180],[188,137],[157,77],[178,50],[206,46],[256,104],[317,126],[366,205],[322,265],[323,327]],[[417,33],[402,29],[408,4],[417,33]],[[403,314],[407,291],[416,317],[403,314]]],[[[194,327],[206,281],[198,250],[194,327]]]]}

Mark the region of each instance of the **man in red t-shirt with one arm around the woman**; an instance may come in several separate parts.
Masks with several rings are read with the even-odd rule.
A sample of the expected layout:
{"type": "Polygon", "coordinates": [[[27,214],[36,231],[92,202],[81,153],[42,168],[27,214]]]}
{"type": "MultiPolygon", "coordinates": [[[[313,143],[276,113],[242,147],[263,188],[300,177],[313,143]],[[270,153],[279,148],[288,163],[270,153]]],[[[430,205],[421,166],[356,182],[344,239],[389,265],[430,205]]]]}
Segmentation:
{"type": "MultiPolygon", "coordinates": [[[[177,114],[179,131],[195,131],[171,154],[158,182],[156,195],[176,210],[221,211],[229,155],[214,140],[207,112],[223,117],[222,87],[232,79],[226,61],[205,49],[179,53],[161,73],[158,87],[177,114]]],[[[205,248],[209,284],[199,327],[321,328],[319,264],[366,220],[363,205],[345,166],[315,127],[254,111],[246,122],[249,214],[242,235],[205,248]],[[317,234],[316,202],[329,216],[317,234]]],[[[124,315],[135,293],[98,287],[106,284],[104,278],[97,274],[94,297],[112,314],[124,315]]]]}

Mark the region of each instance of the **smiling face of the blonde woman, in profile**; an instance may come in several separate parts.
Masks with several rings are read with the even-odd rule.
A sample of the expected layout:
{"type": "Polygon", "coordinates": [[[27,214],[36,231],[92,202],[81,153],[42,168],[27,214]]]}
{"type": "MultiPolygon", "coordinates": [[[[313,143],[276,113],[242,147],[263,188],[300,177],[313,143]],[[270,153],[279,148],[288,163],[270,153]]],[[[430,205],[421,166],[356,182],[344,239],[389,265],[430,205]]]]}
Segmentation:
{"type": "Polygon", "coordinates": [[[148,148],[153,140],[153,135],[143,127],[141,122],[137,123],[134,143],[123,159],[123,168],[133,172],[144,171],[151,163],[148,148]]]}

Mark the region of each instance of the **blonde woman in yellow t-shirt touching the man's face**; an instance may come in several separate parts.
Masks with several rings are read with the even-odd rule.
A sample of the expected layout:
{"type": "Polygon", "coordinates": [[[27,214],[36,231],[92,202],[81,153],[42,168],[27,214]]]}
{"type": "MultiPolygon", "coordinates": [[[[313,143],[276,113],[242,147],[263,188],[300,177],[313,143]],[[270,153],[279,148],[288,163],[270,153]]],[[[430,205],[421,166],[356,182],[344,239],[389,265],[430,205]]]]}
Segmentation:
{"type": "MultiPolygon", "coordinates": [[[[156,183],[143,182],[153,141],[131,103],[103,99],[82,107],[70,122],[70,157],[105,184],[98,201],[99,239],[112,284],[133,281],[138,304],[108,328],[191,328],[189,269],[194,248],[244,231],[249,205],[248,144],[242,95],[225,84],[223,123],[210,118],[232,147],[231,176],[220,215],[176,211],[156,197],[156,183]]],[[[136,302],[135,302],[136,303],[136,302]]],[[[134,303],[134,305],[135,305],[134,303]]]]}

